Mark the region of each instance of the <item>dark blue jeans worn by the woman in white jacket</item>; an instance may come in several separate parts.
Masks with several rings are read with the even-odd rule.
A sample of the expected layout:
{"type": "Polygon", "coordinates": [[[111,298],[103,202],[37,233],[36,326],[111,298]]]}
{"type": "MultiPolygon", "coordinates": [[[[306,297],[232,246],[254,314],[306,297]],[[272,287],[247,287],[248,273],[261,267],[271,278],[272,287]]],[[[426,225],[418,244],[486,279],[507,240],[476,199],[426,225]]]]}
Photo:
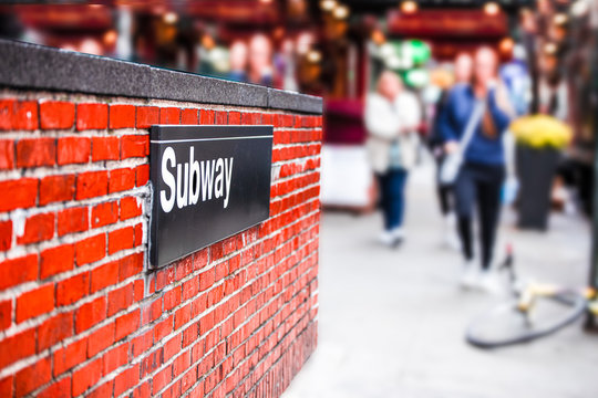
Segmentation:
{"type": "Polygon", "coordinates": [[[405,169],[389,170],[377,175],[377,177],[380,185],[384,229],[390,231],[403,224],[408,171],[405,169]]]}

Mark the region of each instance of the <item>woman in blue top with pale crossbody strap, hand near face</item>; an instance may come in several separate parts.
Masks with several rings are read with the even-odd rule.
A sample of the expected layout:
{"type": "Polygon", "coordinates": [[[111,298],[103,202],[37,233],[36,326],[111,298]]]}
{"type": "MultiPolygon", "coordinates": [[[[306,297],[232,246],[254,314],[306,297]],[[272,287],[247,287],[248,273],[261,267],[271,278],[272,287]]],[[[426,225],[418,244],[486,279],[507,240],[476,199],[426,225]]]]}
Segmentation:
{"type": "Polygon", "coordinates": [[[461,283],[497,290],[492,270],[493,249],[501,211],[501,188],[505,178],[502,139],[514,111],[504,85],[497,81],[498,57],[491,48],[475,52],[471,84],[451,90],[439,115],[439,128],[448,156],[463,154],[454,191],[457,229],[465,264],[461,283]],[[468,127],[470,125],[470,127],[468,127]],[[474,264],[473,212],[480,213],[482,274],[474,264]]]}

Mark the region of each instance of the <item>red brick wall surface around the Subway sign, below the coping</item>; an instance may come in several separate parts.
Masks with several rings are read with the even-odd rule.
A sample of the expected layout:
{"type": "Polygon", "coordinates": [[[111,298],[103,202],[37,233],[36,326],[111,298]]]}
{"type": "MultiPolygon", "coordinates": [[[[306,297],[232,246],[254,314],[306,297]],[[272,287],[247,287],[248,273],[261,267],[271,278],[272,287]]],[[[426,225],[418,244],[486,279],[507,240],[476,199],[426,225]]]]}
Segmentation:
{"type": "Polygon", "coordinates": [[[0,396],[279,396],[317,342],[321,116],[0,100],[0,396]],[[270,219],[158,271],[152,124],[272,124],[270,219]]]}

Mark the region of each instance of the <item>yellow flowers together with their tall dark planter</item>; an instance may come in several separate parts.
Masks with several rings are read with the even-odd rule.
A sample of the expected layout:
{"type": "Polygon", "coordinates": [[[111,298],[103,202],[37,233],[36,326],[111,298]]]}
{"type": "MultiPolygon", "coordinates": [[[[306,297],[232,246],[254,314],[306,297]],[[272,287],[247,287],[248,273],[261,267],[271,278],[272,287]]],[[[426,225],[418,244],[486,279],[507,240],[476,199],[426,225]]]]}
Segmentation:
{"type": "Polygon", "coordinates": [[[519,117],[509,128],[517,143],[518,227],[546,230],[553,179],[571,129],[548,115],[519,117]]]}

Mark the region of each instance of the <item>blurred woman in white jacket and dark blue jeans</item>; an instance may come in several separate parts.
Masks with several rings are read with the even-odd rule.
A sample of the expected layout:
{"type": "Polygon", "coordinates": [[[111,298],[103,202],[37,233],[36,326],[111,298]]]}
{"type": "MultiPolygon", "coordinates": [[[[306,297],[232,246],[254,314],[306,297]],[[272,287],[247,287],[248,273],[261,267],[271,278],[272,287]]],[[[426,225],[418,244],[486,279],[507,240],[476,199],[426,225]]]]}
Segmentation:
{"type": "Polygon", "coordinates": [[[365,101],[365,128],[368,153],[380,187],[384,244],[395,245],[404,238],[404,187],[415,163],[420,118],[415,96],[403,88],[395,73],[383,72],[377,92],[365,101]]]}

